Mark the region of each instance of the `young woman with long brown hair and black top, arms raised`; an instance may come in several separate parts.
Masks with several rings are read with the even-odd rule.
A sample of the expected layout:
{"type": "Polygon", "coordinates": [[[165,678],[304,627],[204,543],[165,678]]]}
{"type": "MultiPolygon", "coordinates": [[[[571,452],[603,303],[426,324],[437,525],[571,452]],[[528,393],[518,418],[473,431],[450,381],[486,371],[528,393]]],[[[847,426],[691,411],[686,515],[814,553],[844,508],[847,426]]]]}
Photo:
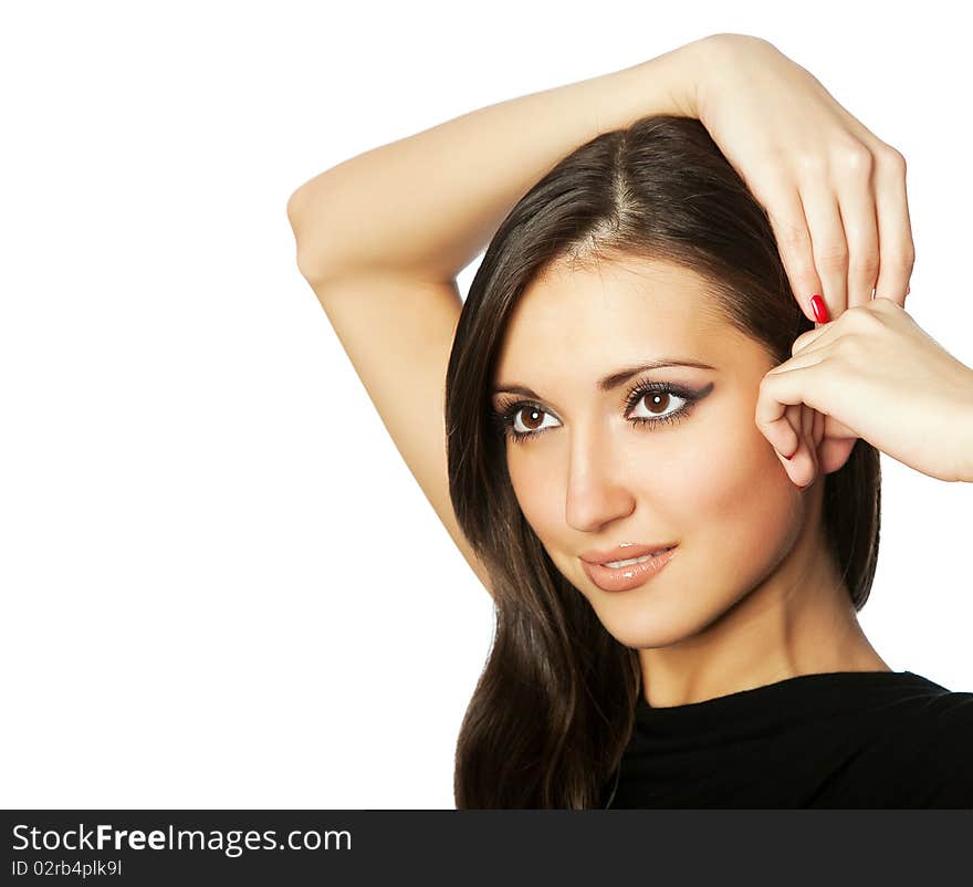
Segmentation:
{"type": "Polygon", "coordinates": [[[973,693],[891,671],[856,618],[876,448],[973,479],[973,372],[903,310],[901,158],[807,72],[708,38],[369,152],[289,215],[496,603],[459,807],[973,806],[973,693]],[[903,349],[951,442],[849,378],[903,349]]]}

